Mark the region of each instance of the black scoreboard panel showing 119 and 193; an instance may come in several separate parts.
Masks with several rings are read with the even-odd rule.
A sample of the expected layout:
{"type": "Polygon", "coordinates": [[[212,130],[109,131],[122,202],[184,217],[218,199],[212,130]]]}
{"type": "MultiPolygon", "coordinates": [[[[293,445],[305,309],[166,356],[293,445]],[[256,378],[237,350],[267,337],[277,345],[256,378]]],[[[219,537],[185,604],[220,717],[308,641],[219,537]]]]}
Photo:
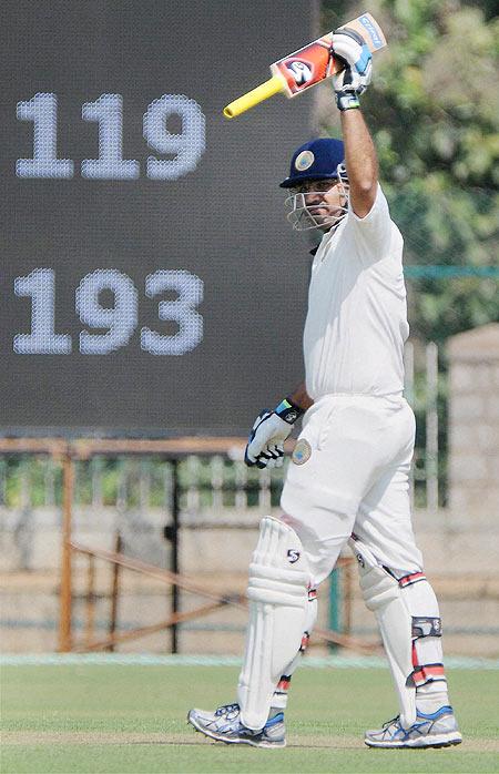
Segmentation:
{"type": "Polygon", "coordinates": [[[2,3],[2,434],[246,432],[303,376],[284,217],[314,94],[224,105],[310,40],[295,0],[2,3]]]}

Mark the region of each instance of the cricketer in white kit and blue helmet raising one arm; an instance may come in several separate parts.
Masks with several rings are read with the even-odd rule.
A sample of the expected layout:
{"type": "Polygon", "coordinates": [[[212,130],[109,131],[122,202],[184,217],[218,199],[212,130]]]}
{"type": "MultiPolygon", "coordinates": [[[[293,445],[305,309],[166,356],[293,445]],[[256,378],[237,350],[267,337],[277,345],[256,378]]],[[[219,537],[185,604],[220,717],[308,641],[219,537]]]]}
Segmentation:
{"type": "Polygon", "coordinates": [[[398,700],[396,717],[366,731],[371,747],[461,742],[447,693],[441,621],[411,527],[408,475],[415,417],[403,396],[409,333],[403,237],[378,184],[359,95],[371,54],[354,30],[333,37],[345,69],[333,77],[343,142],[318,139],[293,154],[281,183],[293,227],[317,230],[304,330],[305,383],[256,419],[246,464],[283,461],[303,416],[279,519],[264,517],[249,566],[249,621],[237,701],[191,710],[214,740],[286,743],[288,689],[316,619],[316,588],[348,542],[364,601],[377,619],[398,700]]]}

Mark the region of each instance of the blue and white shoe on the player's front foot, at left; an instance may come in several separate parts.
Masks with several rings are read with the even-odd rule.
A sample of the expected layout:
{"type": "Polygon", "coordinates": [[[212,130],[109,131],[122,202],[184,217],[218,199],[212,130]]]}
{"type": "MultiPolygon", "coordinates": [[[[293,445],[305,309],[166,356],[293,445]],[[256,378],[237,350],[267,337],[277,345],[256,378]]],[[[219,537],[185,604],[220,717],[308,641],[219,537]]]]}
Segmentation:
{"type": "Polygon", "coordinates": [[[253,747],[286,746],[283,712],[271,716],[261,731],[252,731],[242,724],[238,704],[224,704],[215,712],[191,710],[187,722],[205,736],[226,744],[251,744],[253,747]]]}

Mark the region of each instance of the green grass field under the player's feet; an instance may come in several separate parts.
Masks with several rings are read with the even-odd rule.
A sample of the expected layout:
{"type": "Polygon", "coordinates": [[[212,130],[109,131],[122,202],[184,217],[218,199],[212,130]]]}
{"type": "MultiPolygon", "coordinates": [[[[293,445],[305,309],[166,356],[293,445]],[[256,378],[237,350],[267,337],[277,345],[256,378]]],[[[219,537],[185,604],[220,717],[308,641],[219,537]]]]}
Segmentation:
{"type": "Polygon", "coordinates": [[[1,772],[499,772],[499,671],[450,673],[465,742],[429,751],[363,745],[395,714],[380,669],[298,671],[284,750],[205,741],[185,713],[231,701],[236,679],[223,666],[3,666],[1,772]]]}

